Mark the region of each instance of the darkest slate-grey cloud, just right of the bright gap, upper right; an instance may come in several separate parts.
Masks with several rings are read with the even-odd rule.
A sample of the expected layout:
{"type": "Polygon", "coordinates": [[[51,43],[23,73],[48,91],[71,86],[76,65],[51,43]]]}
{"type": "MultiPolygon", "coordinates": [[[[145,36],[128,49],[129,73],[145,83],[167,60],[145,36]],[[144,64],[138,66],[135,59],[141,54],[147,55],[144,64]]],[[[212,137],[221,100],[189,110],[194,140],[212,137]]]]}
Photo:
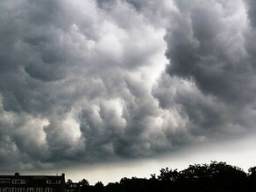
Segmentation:
{"type": "Polygon", "coordinates": [[[183,13],[181,7],[181,14],[165,37],[167,58],[171,59],[167,71],[171,75],[195,80],[196,86],[204,93],[226,102],[252,100],[250,95],[255,92],[255,87],[249,87],[251,93],[247,93],[248,87],[245,86],[255,78],[241,37],[246,29],[243,26],[234,28],[234,24],[244,18],[240,17],[239,21],[235,12],[229,13],[219,5],[222,4],[194,5],[187,8],[189,13],[183,13]]]}

